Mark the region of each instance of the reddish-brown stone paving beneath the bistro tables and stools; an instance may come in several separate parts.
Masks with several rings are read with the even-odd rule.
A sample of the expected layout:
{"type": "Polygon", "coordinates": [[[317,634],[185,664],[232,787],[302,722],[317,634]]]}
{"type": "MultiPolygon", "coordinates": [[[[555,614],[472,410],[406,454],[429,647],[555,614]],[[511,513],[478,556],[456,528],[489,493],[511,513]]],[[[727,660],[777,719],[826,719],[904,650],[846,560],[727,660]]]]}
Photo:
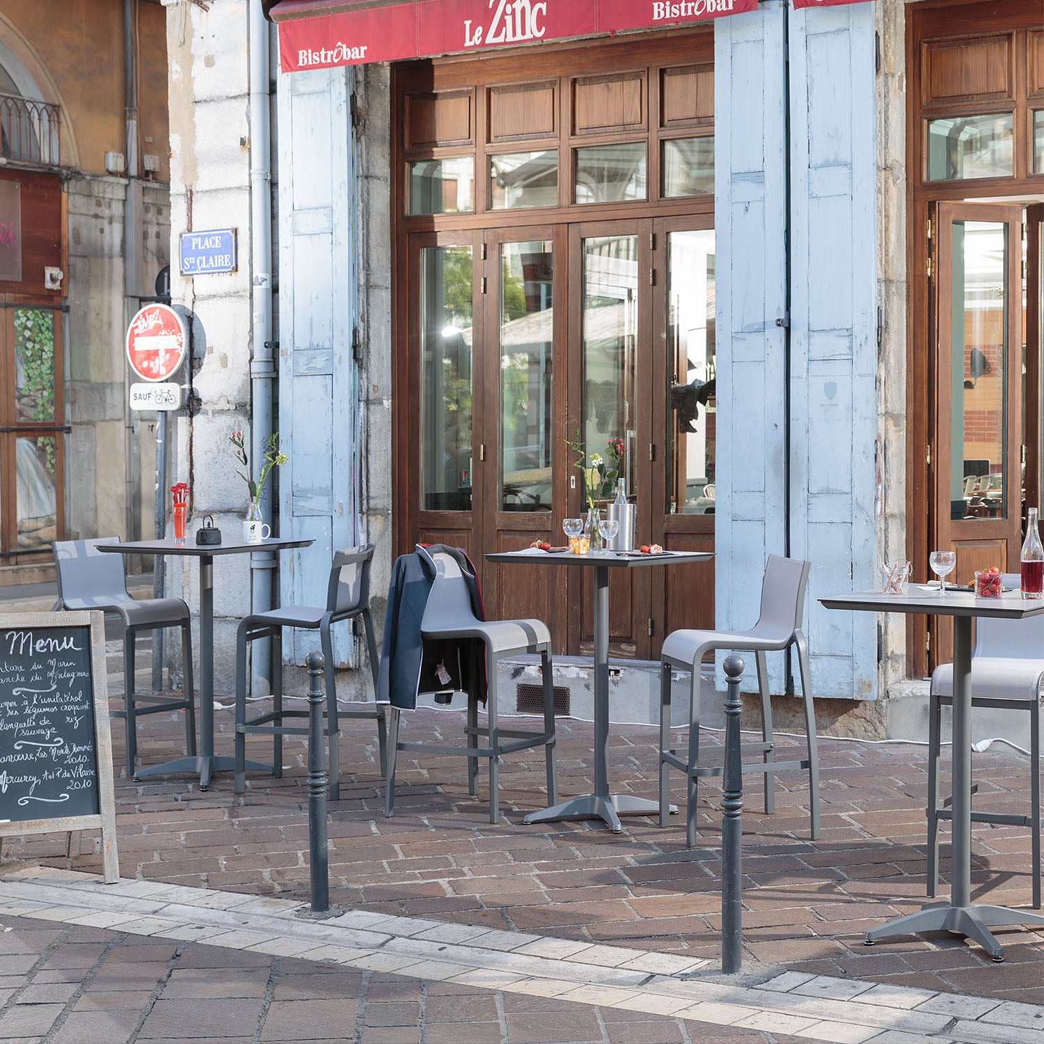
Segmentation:
{"type": "MultiPolygon", "coordinates": [[[[177,756],[179,721],[140,727],[144,764],[177,756]]],[[[218,711],[217,749],[232,748],[231,711],[218,711]]],[[[405,716],[404,738],[458,737],[456,710],[405,716]]],[[[503,814],[489,823],[485,779],[468,797],[460,759],[400,758],[396,815],[383,815],[383,780],[371,722],[348,721],[341,739],[340,800],[330,804],[331,901],[355,910],[528,931],[583,942],[719,956],[718,791],[699,791],[701,838],[685,847],[684,825],[624,821],[613,835],[592,823],[523,826],[544,804],[543,757],[508,756],[501,769],[503,814]]],[[[713,735],[710,739],[714,741],[713,735]]],[[[791,742],[781,739],[781,743],[791,742]]],[[[270,759],[251,741],[248,756],[270,759]]],[[[114,723],[114,750],[122,726],[114,723]]],[[[784,754],[780,755],[785,756],[784,754]]],[[[119,755],[117,755],[118,760],[119,755]]],[[[760,790],[746,794],[743,939],[755,960],[794,971],[1044,1001],[1044,939],[998,929],[1005,963],[948,933],[862,945],[862,932],[925,899],[925,750],[823,740],[823,837],[808,839],[807,784],[781,777],[776,814],[761,813],[760,790]]],[[[200,793],[177,777],[117,780],[120,870],[124,877],[301,900],[308,895],[307,772],[303,742],[287,740],[281,779],[248,777],[236,797],[231,777],[200,793]]],[[[614,727],[611,779],[621,792],[656,797],[655,730],[614,727]]],[[[976,754],[977,807],[1028,810],[1026,759],[995,745],[976,754]]],[[[563,797],[591,788],[591,726],[560,722],[563,797]]],[[[673,800],[684,803],[673,774],[673,800]]],[[[945,835],[944,835],[945,838],[945,835]]],[[[97,871],[97,838],[85,833],[71,865],[97,871]]],[[[64,836],[4,844],[5,856],[67,865],[64,836]]],[[[978,826],[976,901],[1027,906],[1028,831],[978,826]]],[[[943,870],[948,849],[944,845],[943,870]]],[[[943,894],[946,894],[943,883],[943,894]]]]}

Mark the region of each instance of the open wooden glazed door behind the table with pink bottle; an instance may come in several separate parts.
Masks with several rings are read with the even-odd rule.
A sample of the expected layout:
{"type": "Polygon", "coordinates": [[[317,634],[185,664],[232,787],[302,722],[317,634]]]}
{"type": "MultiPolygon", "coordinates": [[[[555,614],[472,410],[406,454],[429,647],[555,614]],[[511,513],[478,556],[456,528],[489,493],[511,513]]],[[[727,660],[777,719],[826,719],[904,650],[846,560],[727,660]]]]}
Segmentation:
{"type": "MultiPolygon", "coordinates": [[[[1022,542],[1022,209],[940,204],[931,549],[974,571],[1018,568],[1022,542]]],[[[927,390],[927,389],[926,389],[927,390]]],[[[939,626],[933,659],[950,655],[939,626]]]]}

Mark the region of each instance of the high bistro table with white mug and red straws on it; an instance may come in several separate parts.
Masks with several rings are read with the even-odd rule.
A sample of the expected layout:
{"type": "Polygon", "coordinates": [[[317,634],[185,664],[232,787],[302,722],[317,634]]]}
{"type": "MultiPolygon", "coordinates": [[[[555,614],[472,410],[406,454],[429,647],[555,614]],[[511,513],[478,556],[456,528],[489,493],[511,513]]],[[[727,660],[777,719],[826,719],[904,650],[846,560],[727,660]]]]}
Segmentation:
{"type": "MultiPolygon", "coordinates": [[[[236,526],[238,528],[238,523],[236,526]]],[[[310,540],[274,538],[263,540],[260,544],[243,544],[238,540],[221,544],[196,544],[190,539],[136,540],[98,545],[99,551],[115,551],[119,554],[174,554],[199,560],[199,754],[194,758],[176,758],[162,765],[141,768],[135,774],[136,779],[168,773],[198,773],[199,789],[207,790],[214,773],[231,773],[235,769],[235,758],[217,757],[214,754],[214,556],[282,551],[288,547],[308,547],[311,543],[310,540]]],[[[271,766],[247,761],[246,767],[267,770],[271,766]]]]}

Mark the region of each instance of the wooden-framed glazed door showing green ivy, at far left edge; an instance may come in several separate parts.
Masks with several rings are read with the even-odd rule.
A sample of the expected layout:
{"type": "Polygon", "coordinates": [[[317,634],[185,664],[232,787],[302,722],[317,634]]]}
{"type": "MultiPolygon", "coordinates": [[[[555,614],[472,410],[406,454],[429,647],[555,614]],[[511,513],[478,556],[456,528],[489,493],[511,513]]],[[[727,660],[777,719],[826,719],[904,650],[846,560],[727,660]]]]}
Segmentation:
{"type": "Polygon", "coordinates": [[[0,562],[50,553],[64,536],[62,311],[0,308],[0,562]]]}

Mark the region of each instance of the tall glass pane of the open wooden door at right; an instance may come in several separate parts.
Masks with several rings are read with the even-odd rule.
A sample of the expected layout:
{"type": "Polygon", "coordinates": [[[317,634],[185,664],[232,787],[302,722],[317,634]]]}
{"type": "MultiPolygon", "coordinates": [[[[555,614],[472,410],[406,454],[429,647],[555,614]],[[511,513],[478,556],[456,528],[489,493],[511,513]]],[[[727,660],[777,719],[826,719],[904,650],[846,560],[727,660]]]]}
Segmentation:
{"type": "Polygon", "coordinates": [[[955,519],[1006,517],[1007,253],[1001,222],[953,222],[950,514],[955,519]]]}

